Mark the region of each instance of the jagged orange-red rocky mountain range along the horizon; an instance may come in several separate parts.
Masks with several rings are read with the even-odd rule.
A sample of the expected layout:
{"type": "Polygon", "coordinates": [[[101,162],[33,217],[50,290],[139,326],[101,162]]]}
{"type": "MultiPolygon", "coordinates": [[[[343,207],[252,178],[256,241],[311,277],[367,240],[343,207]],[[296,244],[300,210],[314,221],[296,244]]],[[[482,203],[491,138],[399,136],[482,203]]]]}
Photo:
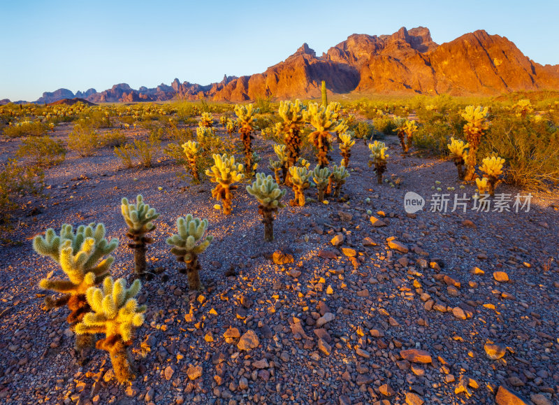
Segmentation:
{"type": "Polygon", "coordinates": [[[317,57],[303,45],[283,62],[252,76],[224,76],[198,85],[175,78],[170,85],[132,89],[126,83],[103,92],[45,92],[36,103],[80,97],[94,103],[211,99],[246,101],[314,98],[321,80],[344,94],[493,95],[517,90],[559,89],[559,65],[537,64],[507,38],[479,30],[438,45],[425,27],[402,27],[391,35],[353,34],[317,57]]]}

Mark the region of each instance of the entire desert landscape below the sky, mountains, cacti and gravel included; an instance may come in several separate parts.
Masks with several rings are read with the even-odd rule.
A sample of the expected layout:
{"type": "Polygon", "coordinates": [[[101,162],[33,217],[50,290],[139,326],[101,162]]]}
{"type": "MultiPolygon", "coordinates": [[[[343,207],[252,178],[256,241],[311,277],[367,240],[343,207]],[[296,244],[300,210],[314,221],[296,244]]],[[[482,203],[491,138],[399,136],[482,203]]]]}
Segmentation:
{"type": "Polygon", "coordinates": [[[559,404],[558,66],[402,27],[4,99],[1,402],[559,404]]]}

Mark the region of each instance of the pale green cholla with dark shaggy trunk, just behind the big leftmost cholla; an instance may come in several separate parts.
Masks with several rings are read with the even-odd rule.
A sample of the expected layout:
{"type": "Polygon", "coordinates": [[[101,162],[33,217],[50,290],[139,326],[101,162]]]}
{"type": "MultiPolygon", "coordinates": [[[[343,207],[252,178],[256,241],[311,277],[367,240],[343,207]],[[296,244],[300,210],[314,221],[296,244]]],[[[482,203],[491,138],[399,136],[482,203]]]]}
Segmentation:
{"type": "Polygon", "coordinates": [[[155,229],[152,221],[159,218],[159,213],[149,204],[144,204],[141,194],[136,197],[136,204],[129,204],[128,199],[123,198],[120,208],[122,217],[129,227],[126,236],[132,239],[129,247],[134,250],[134,273],[136,276],[143,277],[147,270],[145,262],[147,244],[153,243],[153,239],[145,234],[155,229]]]}

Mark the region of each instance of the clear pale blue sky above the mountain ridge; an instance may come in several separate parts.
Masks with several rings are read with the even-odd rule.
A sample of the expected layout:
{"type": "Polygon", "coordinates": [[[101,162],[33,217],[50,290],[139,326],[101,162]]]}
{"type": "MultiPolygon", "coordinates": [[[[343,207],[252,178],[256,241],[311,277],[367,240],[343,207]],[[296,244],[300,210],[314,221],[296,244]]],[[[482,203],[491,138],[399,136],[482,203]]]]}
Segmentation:
{"type": "Polygon", "coordinates": [[[0,99],[60,87],[206,85],[265,71],[306,42],[317,55],[351,34],[423,26],[444,43],[485,29],[559,64],[559,0],[0,0],[0,99]]]}

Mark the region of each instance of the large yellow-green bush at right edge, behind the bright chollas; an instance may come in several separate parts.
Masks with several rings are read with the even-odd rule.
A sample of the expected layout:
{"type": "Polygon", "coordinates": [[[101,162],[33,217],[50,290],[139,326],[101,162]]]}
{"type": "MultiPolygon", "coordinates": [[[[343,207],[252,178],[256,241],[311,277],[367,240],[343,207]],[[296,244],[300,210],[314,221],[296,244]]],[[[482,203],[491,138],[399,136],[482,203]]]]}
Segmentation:
{"type": "Polygon", "coordinates": [[[478,155],[493,153],[507,162],[505,183],[540,190],[559,183],[559,129],[546,120],[496,115],[478,155]]]}

